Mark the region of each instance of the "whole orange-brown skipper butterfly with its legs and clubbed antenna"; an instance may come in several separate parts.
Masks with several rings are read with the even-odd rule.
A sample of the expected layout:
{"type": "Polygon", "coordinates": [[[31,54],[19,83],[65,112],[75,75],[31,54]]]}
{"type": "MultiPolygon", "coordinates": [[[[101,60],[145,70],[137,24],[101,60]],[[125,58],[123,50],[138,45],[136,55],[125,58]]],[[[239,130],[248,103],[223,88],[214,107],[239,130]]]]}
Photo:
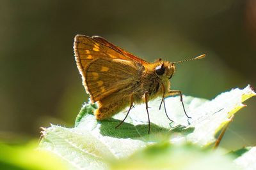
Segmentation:
{"type": "MultiPolygon", "coordinates": [[[[74,53],[85,90],[90,94],[91,102],[98,105],[97,110],[94,111],[96,119],[108,119],[129,106],[125,116],[127,118],[133,104],[145,103],[148,133],[150,133],[148,101],[156,97],[162,97],[159,109],[163,104],[166,113],[164,97],[179,94],[184,113],[188,117],[182,92],[170,90],[170,79],[175,73],[176,63],[205,57],[200,55],[179,62],[157,59],[150,63],[100,36],[84,35],[75,37],[74,53]]],[[[168,117],[167,113],[166,116],[168,117]]],[[[119,127],[125,118],[116,127],[119,127]]],[[[172,121],[169,117],[168,119],[172,121]]]]}

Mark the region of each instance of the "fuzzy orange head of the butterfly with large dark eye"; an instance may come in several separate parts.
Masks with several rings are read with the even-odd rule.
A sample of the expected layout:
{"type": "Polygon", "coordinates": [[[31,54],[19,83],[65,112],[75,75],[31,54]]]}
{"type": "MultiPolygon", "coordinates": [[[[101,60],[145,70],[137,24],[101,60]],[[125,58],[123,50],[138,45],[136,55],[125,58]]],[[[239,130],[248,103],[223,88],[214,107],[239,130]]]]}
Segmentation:
{"type": "Polygon", "coordinates": [[[159,78],[172,78],[175,72],[175,66],[171,62],[159,62],[159,65],[155,67],[155,73],[159,78]]]}

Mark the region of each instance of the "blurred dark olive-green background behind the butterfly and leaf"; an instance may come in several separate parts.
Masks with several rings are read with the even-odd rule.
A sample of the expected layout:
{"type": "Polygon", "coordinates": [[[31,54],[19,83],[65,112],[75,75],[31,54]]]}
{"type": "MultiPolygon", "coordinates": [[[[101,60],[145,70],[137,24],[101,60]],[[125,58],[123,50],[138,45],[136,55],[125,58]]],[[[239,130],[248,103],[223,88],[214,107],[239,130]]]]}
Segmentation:
{"type": "MultiPolygon", "coordinates": [[[[172,89],[212,99],[255,86],[256,1],[13,1],[0,6],[0,140],[72,127],[88,101],[73,53],[76,34],[99,35],[150,62],[177,61],[172,89]]],[[[221,146],[255,145],[256,99],[246,101],[221,146]]]]}

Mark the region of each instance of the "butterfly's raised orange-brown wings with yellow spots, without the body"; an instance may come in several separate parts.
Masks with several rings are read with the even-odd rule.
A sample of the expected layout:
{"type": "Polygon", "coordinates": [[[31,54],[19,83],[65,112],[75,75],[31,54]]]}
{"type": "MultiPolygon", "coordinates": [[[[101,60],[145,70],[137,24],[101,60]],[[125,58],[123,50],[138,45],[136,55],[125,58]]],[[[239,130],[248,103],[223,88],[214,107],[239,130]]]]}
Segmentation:
{"type": "Polygon", "coordinates": [[[129,88],[138,79],[141,64],[100,41],[77,35],[74,52],[86,92],[92,102],[129,88]]]}

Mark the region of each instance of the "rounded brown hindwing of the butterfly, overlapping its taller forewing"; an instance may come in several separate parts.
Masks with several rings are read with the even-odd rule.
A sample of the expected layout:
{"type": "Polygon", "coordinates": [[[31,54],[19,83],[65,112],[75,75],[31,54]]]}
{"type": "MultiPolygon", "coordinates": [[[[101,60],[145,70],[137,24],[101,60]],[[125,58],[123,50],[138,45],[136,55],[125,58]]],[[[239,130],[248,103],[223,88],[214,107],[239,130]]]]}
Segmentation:
{"type": "Polygon", "coordinates": [[[131,89],[138,79],[138,63],[121,59],[96,59],[85,68],[83,85],[92,102],[117,91],[131,89]]]}

